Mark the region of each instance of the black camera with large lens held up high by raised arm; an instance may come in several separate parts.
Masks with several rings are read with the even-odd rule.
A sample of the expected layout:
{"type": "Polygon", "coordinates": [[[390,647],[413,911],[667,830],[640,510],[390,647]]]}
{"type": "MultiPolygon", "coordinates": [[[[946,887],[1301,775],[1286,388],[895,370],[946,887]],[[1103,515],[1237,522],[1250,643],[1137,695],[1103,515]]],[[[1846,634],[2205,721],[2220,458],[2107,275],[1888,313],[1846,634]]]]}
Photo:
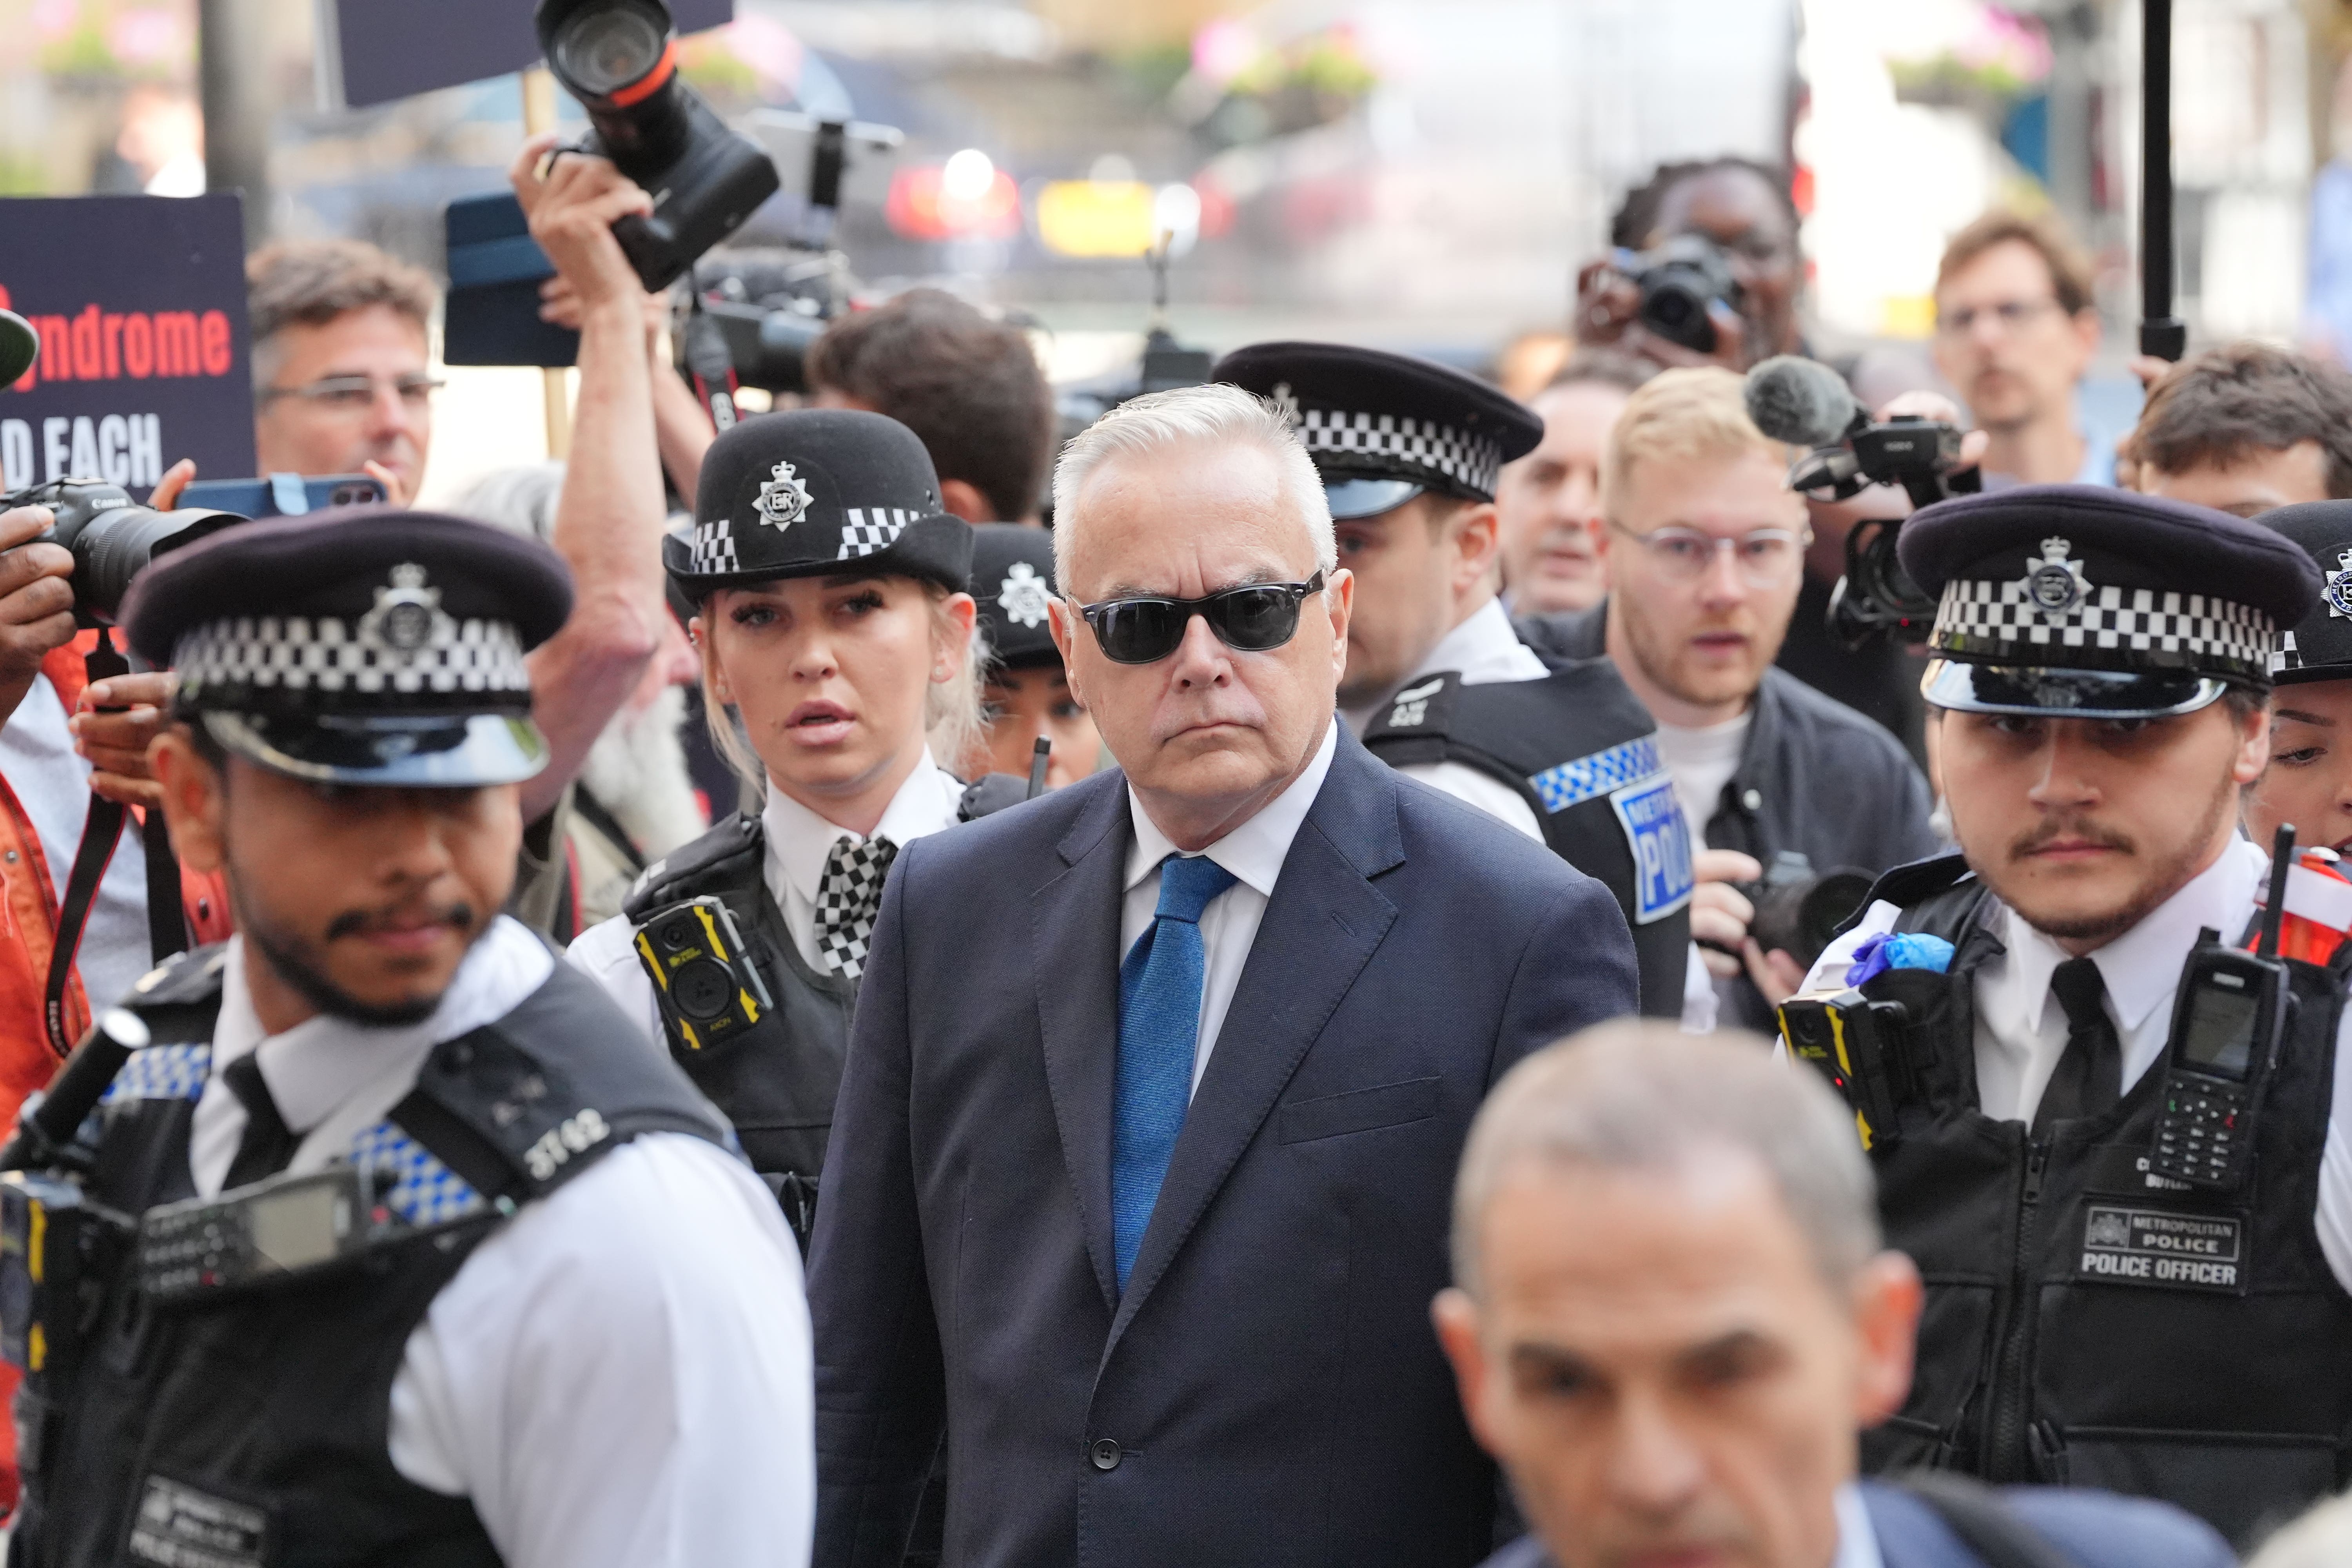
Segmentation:
{"type": "Polygon", "coordinates": [[[595,127],[581,153],[609,158],[654,197],[612,226],[637,280],[668,289],[694,259],[776,193],[776,165],[677,80],[677,33],[661,0],[539,0],[548,71],[595,127]]]}

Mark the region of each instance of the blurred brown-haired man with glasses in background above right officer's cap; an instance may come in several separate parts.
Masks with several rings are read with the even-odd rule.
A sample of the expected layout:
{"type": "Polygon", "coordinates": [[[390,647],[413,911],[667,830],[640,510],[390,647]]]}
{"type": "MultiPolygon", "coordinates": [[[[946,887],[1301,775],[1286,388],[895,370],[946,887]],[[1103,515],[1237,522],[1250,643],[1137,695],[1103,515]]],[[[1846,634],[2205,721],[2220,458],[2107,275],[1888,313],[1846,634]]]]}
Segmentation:
{"type": "Polygon", "coordinates": [[[1994,484],[2114,484],[2114,437],[2091,437],[2074,390],[2098,353],[2091,263],[2056,219],[1987,212],[1936,268],[1936,369],[1992,437],[1994,484]]]}

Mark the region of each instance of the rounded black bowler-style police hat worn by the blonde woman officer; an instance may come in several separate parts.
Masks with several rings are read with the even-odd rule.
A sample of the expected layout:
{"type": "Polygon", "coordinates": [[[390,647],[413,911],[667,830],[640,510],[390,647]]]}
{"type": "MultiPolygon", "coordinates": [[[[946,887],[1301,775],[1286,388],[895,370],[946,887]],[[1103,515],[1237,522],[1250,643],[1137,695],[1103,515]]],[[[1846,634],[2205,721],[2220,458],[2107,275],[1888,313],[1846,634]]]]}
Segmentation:
{"type": "Polygon", "coordinates": [[[962,592],[971,524],[938,501],[922,440],[884,414],[760,414],[710,444],[694,527],[661,541],[689,599],[795,576],[906,574],[962,592]]]}

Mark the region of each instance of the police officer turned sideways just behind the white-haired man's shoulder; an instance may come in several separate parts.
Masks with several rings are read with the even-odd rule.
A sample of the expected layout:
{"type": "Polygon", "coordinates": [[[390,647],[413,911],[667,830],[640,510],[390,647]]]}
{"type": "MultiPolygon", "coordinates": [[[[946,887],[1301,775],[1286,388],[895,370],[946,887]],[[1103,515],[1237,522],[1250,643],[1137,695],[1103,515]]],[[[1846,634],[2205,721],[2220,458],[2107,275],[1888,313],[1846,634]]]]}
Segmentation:
{"type": "Polygon", "coordinates": [[[1712,1009],[1691,947],[1691,835],[1656,719],[1606,658],[1548,663],[1496,595],[1494,487],[1543,421],[1444,364],[1251,343],[1216,381],[1270,400],[1315,458],[1355,574],[1341,717],[1390,766],[1550,844],[1632,926],[1642,1011],[1712,1009]]]}

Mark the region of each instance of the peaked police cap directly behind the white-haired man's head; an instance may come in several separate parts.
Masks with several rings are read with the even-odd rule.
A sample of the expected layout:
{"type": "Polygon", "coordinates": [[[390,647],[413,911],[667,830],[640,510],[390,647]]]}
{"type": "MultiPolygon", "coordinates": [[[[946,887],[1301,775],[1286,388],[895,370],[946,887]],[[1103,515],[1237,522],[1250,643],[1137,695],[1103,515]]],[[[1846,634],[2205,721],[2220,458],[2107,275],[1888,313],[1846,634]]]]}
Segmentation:
{"type": "Polygon", "coordinates": [[[1503,463],[1543,421],[1458,369],[1345,343],[1251,343],[1214,381],[1272,402],[1324,477],[1334,517],[1371,517],[1421,491],[1494,501],[1503,463]]]}

